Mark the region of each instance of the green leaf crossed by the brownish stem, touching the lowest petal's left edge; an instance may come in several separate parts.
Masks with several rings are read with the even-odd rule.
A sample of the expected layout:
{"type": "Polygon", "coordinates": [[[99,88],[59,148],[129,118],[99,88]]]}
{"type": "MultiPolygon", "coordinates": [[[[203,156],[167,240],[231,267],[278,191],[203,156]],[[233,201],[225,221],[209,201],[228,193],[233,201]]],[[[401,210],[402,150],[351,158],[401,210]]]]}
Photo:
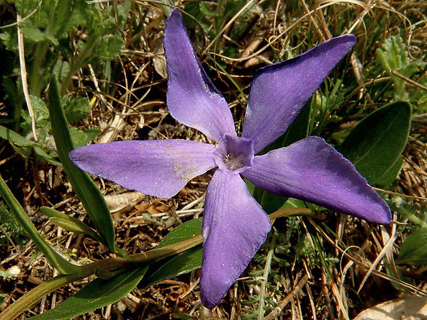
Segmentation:
{"type": "MultiPolygon", "coordinates": [[[[176,244],[202,232],[202,218],[190,220],[180,226],[174,228],[160,244],[158,248],[176,244]]],[[[153,284],[157,284],[165,279],[171,279],[184,273],[189,273],[192,270],[202,266],[202,245],[196,246],[189,250],[184,251],[174,257],[162,259],[160,262],[152,264],[149,268],[147,277],[144,277],[140,283],[140,288],[147,288],[153,284]]]]}

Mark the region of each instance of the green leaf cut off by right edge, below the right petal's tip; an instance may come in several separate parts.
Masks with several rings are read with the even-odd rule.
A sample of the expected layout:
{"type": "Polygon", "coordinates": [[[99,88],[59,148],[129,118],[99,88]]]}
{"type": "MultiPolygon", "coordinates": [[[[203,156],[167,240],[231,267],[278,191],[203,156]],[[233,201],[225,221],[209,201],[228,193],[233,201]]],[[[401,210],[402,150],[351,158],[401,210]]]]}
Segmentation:
{"type": "Polygon", "coordinates": [[[419,266],[427,264],[427,229],[420,228],[406,237],[396,264],[419,266]]]}

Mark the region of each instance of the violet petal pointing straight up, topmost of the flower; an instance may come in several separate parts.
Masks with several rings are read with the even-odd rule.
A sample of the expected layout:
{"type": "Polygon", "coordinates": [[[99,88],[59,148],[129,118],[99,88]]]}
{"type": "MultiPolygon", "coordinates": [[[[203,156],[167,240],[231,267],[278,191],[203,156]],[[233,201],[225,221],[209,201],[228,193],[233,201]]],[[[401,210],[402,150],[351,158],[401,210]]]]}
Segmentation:
{"type": "Polygon", "coordinates": [[[165,54],[171,116],[212,140],[225,134],[236,136],[229,106],[200,65],[179,10],[173,10],[166,22],[165,54]]]}

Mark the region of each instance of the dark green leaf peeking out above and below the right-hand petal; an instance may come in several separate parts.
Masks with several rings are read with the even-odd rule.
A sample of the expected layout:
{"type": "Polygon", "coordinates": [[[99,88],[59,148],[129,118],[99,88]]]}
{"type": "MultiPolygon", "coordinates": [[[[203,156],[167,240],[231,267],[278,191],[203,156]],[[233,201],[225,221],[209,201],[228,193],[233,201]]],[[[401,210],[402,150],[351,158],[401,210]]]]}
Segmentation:
{"type": "MultiPolygon", "coordinates": [[[[300,114],[298,114],[298,117],[295,118],[292,125],[289,127],[289,129],[287,129],[286,133],[275,140],[267,148],[262,150],[261,153],[265,154],[274,149],[287,147],[293,142],[306,138],[309,134],[310,115],[311,101],[306,103],[306,105],[302,108],[300,114]]],[[[264,189],[258,188],[258,186],[253,188],[252,195],[253,198],[255,198],[262,206],[262,209],[267,212],[267,214],[277,211],[287,201],[287,198],[280,197],[279,195],[273,195],[264,189]]]]}

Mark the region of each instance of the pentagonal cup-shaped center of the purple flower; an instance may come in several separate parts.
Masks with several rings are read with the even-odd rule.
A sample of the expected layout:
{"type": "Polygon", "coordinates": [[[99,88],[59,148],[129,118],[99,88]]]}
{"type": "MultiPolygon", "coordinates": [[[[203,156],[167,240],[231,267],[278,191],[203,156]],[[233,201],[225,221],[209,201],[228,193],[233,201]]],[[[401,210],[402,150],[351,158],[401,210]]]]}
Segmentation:
{"type": "Polygon", "coordinates": [[[252,141],[245,138],[225,135],[215,151],[215,162],[220,169],[241,173],[250,167],[253,160],[252,141]]]}

